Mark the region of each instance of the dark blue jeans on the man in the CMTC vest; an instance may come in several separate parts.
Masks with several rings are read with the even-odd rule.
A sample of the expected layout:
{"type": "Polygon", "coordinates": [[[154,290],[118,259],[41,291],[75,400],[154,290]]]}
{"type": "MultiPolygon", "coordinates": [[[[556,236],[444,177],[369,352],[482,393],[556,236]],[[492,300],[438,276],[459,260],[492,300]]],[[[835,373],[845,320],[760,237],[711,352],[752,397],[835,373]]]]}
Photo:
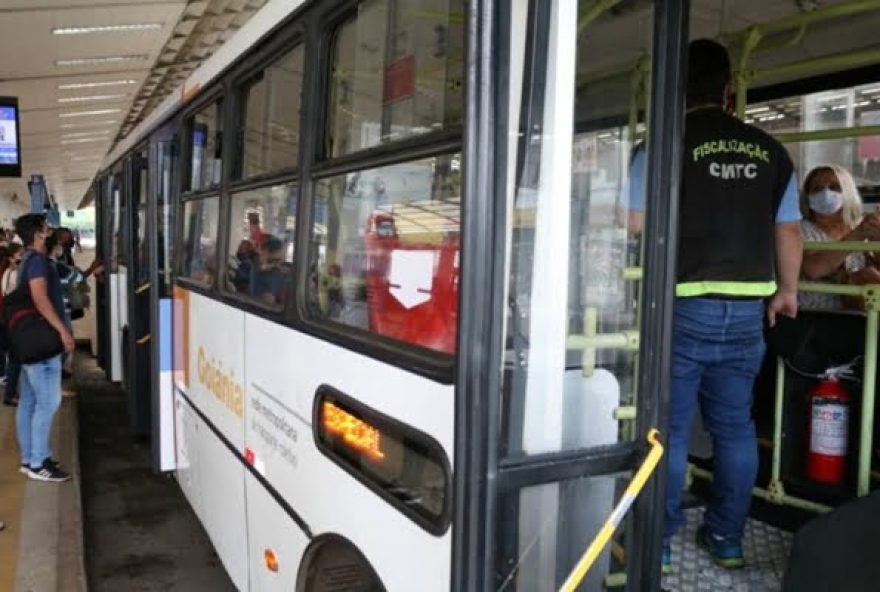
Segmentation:
{"type": "Polygon", "coordinates": [[[704,522],[716,535],[742,537],[758,472],[752,387],[765,352],[763,316],[760,300],[675,302],[666,537],[684,523],[681,494],[698,404],[715,459],[712,500],[704,522]]]}

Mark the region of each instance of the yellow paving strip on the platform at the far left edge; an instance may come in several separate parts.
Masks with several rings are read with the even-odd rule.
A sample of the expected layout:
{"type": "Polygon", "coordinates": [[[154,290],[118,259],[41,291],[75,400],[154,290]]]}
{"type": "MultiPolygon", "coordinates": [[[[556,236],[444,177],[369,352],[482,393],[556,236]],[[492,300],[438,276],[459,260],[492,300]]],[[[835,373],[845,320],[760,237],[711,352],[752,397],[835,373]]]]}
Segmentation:
{"type": "Polygon", "coordinates": [[[21,538],[21,509],[27,479],[18,472],[20,459],[15,441],[15,408],[0,407],[0,590],[15,587],[18,543],[21,538]]]}

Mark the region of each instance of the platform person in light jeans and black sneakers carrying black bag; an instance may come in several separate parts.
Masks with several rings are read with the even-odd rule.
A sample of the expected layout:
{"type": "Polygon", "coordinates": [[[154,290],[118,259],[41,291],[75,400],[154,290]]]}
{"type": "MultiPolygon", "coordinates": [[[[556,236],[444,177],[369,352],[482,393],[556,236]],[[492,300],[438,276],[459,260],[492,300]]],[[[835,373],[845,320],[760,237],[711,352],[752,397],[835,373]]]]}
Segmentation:
{"type": "MultiPolygon", "coordinates": [[[[52,231],[42,214],[25,214],[15,221],[15,231],[25,245],[18,272],[19,286],[30,290],[34,307],[58,331],[64,350],[73,351],[73,336],[64,322],[64,300],[55,266],[46,256],[46,239],[52,231]]],[[[21,471],[37,481],[67,481],[70,475],[52,459],[49,439],[52,422],[61,404],[61,357],[21,365],[21,392],[17,431],[21,471]]]]}

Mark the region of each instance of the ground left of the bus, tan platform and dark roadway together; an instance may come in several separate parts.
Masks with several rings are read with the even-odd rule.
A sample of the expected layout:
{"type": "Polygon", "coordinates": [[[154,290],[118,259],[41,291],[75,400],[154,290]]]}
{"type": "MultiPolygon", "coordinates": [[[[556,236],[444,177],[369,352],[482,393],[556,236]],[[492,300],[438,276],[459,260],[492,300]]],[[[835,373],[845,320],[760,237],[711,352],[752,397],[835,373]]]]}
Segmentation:
{"type": "Polygon", "coordinates": [[[124,391],[81,344],[52,452],[72,475],[18,472],[14,407],[0,406],[0,592],[232,592],[234,586],[170,475],[132,436],[124,391]]]}

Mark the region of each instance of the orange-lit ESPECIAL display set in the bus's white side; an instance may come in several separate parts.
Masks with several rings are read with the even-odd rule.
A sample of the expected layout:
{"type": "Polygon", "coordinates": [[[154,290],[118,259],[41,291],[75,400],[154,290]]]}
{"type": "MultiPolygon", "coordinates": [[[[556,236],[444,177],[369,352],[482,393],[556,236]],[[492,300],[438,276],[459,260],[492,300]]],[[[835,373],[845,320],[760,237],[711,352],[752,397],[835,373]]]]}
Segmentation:
{"type": "Polygon", "coordinates": [[[433,533],[445,529],[450,470],[440,444],[422,432],[322,387],[318,448],[433,533]]]}

